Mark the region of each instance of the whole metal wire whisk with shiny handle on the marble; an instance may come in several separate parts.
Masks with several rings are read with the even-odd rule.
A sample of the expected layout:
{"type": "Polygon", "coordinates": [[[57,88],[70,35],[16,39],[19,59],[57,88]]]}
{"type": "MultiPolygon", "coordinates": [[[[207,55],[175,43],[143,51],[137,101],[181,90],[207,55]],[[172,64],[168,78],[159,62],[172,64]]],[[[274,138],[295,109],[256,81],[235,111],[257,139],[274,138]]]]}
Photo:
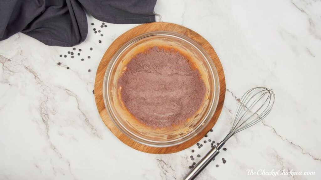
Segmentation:
{"type": "Polygon", "coordinates": [[[273,89],[256,87],[248,90],[239,101],[230,132],[195,165],[184,180],[194,179],[216,157],[230,137],[265,118],[272,109],[274,97],[273,89]]]}

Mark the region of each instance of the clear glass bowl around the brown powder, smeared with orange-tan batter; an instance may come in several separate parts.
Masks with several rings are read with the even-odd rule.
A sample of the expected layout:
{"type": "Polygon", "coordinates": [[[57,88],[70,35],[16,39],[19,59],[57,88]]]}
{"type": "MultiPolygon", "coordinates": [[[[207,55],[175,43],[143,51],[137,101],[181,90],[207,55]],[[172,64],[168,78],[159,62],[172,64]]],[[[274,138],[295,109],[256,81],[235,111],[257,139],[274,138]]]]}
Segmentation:
{"type": "Polygon", "coordinates": [[[103,96],[109,117],[115,126],[132,140],[152,147],[184,143],[200,133],[210,122],[219,99],[219,78],[206,51],[189,37],[169,31],[152,31],[129,40],[110,60],[105,72],[103,96]],[[118,79],[135,54],[153,46],[175,48],[197,67],[205,84],[205,97],[199,110],[189,119],[170,128],[153,128],[139,123],[121,101],[118,79]]]}

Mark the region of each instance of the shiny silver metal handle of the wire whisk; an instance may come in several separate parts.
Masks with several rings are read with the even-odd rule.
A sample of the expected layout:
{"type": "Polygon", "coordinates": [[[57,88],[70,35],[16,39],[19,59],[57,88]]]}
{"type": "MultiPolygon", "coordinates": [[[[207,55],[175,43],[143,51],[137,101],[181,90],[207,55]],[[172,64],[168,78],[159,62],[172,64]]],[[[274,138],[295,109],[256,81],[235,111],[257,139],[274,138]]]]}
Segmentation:
{"type": "Polygon", "coordinates": [[[210,164],[218,153],[220,153],[220,151],[216,147],[213,147],[211,151],[209,151],[204,158],[200,160],[191,171],[189,171],[189,173],[184,177],[184,180],[195,179],[195,177],[198,176],[198,174],[200,174],[208,164],[210,164]]]}

